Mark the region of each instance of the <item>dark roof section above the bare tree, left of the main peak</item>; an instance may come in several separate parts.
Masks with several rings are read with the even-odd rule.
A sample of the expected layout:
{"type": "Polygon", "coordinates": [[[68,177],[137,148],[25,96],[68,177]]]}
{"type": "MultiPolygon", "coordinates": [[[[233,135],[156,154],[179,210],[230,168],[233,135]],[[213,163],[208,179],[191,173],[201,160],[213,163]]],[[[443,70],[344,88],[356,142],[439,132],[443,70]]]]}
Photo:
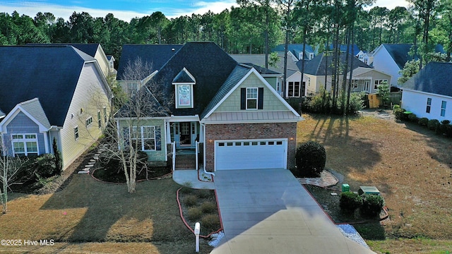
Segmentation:
{"type": "Polygon", "coordinates": [[[119,59],[117,80],[124,80],[127,66],[138,57],[151,65],[150,73],[153,73],[162,68],[182,46],[182,44],[124,44],[119,59]]]}

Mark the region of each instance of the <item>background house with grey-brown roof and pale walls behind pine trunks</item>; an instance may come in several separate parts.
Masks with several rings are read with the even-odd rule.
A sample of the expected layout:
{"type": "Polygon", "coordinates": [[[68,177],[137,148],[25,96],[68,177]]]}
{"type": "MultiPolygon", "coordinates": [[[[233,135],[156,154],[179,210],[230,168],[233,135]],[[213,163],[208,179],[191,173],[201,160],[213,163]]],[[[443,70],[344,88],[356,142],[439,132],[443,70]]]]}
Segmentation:
{"type": "MultiPolygon", "coordinates": [[[[345,59],[346,55],[340,54],[339,61],[341,66],[345,65],[345,59]]],[[[354,70],[352,76],[353,79],[357,77],[357,73],[355,73],[355,70],[357,68],[367,68],[369,71],[373,70],[367,64],[363,63],[362,61],[359,61],[355,56],[350,55],[348,63],[349,68],[352,62],[354,70]]],[[[304,64],[305,64],[304,75],[306,75],[307,77],[307,86],[306,86],[307,95],[315,95],[317,92],[320,92],[322,87],[327,91],[331,91],[331,80],[333,79],[333,56],[331,54],[328,54],[328,56],[326,56],[325,53],[321,53],[318,56],[314,57],[314,59],[312,59],[311,61],[307,61],[304,64]]],[[[301,62],[298,63],[298,66],[299,68],[301,68],[301,62]]],[[[373,75],[374,74],[372,74],[371,76],[373,75]]],[[[339,83],[342,82],[342,80],[343,75],[340,75],[339,83]]],[[[371,83],[369,85],[373,84],[372,82],[373,81],[371,80],[371,83]]]]}

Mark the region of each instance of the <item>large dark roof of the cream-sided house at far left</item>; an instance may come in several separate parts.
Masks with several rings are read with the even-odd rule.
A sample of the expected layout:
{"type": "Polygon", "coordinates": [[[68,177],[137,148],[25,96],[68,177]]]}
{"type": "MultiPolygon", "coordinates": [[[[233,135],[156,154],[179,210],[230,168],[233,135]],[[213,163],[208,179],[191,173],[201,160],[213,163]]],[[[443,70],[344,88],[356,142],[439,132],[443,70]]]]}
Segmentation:
{"type": "Polygon", "coordinates": [[[49,123],[63,126],[86,59],[95,61],[71,46],[1,46],[0,109],[39,98],[49,123]]]}

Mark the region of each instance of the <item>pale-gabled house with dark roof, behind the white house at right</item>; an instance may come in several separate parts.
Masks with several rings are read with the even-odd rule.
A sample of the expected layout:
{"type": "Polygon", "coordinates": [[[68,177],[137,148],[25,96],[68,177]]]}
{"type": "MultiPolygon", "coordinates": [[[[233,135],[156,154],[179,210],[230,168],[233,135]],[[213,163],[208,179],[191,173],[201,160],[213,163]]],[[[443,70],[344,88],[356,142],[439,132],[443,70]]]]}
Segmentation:
{"type": "MultiPolygon", "coordinates": [[[[400,78],[399,71],[403,69],[407,61],[417,59],[410,55],[413,44],[381,44],[374,50],[372,66],[379,71],[391,75],[391,85],[397,86],[397,80],[400,78]]],[[[435,52],[444,53],[440,44],[435,47],[435,52]]],[[[370,63],[369,63],[370,64],[370,63]]]]}

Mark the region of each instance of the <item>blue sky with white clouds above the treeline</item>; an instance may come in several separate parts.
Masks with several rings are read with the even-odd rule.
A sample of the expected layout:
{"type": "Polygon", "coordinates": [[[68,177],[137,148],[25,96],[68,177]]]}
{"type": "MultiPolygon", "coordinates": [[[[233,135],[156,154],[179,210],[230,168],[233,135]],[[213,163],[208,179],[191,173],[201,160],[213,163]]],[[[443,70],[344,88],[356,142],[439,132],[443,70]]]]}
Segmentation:
{"type": "MultiPolygon", "coordinates": [[[[69,20],[76,11],[85,11],[94,18],[113,13],[114,17],[130,22],[132,18],[149,16],[161,11],[167,18],[203,14],[207,11],[220,13],[226,8],[237,6],[235,0],[0,0],[0,12],[25,14],[34,18],[38,12],[53,13],[57,18],[69,20]]],[[[376,0],[374,6],[393,9],[396,6],[408,7],[405,0],[376,0]]]]}

